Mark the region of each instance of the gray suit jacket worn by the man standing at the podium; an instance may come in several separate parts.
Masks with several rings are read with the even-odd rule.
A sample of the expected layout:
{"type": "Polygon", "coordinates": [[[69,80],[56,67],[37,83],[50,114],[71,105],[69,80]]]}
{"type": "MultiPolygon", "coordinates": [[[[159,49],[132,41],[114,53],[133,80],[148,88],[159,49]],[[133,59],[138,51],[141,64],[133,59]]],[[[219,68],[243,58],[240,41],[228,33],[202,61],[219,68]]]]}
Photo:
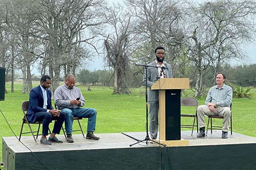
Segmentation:
{"type": "MultiPolygon", "coordinates": [[[[158,101],[159,95],[158,90],[151,90],[151,86],[154,85],[157,81],[157,77],[159,77],[158,70],[156,68],[156,60],[153,62],[150,62],[148,66],[155,66],[155,67],[148,67],[148,73],[147,73],[147,84],[149,87],[148,90],[148,101],[149,102],[155,102],[158,101]]],[[[166,67],[166,78],[172,78],[172,67],[170,64],[164,62],[164,67],[166,67]]],[[[143,84],[145,85],[146,82],[146,74],[144,73],[143,76],[143,84]]]]}

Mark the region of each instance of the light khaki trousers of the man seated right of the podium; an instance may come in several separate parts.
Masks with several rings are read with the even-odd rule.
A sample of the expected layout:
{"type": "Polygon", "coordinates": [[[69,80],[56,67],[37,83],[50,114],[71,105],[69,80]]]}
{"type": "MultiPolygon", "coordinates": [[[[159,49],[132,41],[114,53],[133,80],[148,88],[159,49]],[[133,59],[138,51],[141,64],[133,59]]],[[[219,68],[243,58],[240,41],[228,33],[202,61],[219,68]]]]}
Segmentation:
{"type": "Polygon", "coordinates": [[[200,105],[197,108],[197,119],[199,127],[205,127],[204,115],[218,115],[223,117],[222,131],[228,132],[228,124],[230,121],[231,110],[230,107],[217,106],[214,111],[210,111],[207,105],[200,105]]]}

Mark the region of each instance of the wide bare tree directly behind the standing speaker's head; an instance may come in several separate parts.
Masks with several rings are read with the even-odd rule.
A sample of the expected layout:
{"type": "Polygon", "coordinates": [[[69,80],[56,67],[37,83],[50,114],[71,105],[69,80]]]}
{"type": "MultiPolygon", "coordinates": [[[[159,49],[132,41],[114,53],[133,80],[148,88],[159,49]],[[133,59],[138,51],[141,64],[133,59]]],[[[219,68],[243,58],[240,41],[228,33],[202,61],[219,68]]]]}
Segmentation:
{"type": "MultiPolygon", "coordinates": [[[[136,50],[132,53],[133,63],[147,64],[155,57],[153,55],[156,46],[164,46],[166,49],[165,60],[177,64],[173,60],[184,55],[185,49],[182,43],[182,29],[179,28],[182,10],[179,1],[175,0],[126,0],[129,11],[136,17],[132,21],[132,32],[140,38],[136,50]]],[[[179,66],[177,66],[179,67],[179,66]]],[[[142,67],[134,68],[134,76],[143,74],[142,67]]],[[[175,76],[179,74],[175,72],[175,76]]]]}

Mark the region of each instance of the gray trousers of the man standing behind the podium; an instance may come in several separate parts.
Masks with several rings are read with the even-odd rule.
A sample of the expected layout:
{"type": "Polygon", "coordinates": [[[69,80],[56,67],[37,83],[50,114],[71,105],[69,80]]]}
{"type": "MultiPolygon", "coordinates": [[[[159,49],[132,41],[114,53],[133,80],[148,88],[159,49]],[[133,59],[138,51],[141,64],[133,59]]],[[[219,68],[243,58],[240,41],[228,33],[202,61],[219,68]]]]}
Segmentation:
{"type": "Polygon", "coordinates": [[[151,138],[157,138],[159,101],[149,102],[149,131],[151,138]]]}

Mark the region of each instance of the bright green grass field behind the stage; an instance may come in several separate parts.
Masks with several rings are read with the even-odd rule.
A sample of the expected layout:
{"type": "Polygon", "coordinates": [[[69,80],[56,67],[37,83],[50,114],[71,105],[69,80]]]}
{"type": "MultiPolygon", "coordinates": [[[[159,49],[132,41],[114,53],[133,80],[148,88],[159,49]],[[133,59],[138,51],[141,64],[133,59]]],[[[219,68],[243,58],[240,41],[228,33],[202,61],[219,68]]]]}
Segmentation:
{"type": "MultiPolygon", "coordinates": [[[[33,82],[36,87],[39,82],[33,82]]],[[[108,87],[92,87],[91,92],[86,92],[87,86],[77,85],[86,99],[85,107],[95,108],[97,115],[97,133],[120,133],[120,132],[143,132],[145,131],[145,96],[144,89],[132,89],[131,95],[113,95],[113,90],[108,87]]],[[[15,92],[10,92],[10,83],[6,83],[8,94],[4,101],[0,101],[0,109],[11,125],[13,131],[19,136],[20,126],[22,124],[21,103],[29,99],[29,94],[21,94],[21,83],[15,83],[15,92]]],[[[255,93],[256,89],[252,89],[255,93]]],[[[191,94],[188,92],[188,94],[191,94]]],[[[205,97],[198,99],[199,104],[204,104],[205,97]]],[[[232,101],[232,120],[234,132],[256,136],[256,106],[253,99],[233,99],[232,101]]],[[[195,111],[195,108],[182,107],[182,113],[195,111]]],[[[221,124],[222,120],[214,121],[214,124],[221,124]]],[[[193,123],[192,118],[182,118],[182,123],[193,123]]],[[[82,121],[83,130],[86,131],[87,120],[82,121]]],[[[78,125],[74,124],[74,129],[78,125]]],[[[51,124],[52,129],[52,124],[51,124]]],[[[25,125],[24,131],[28,131],[28,125],[25,125]]],[[[182,129],[189,131],[189,129],[182,129]]],[[[79,133],[79,132],[77,132],[79,133]]],[[[61,133],[62,134],[62,133],[61,133]]],[[[29,134],[28,134],[29,135],[29,134]]],[[[194,132],[194,136],[196,132],[194,132]]],[[[2,115],[0,115],[0,141],[3,136],[14,136],[6,124],[2,115]]],[[[33,138],[31,137],[31,140],[33,138]]],[[[2,148],[0,149],[0,152],[2,148]]],[[[2,153],[0,155],[0,160],[2,153]]]]}

